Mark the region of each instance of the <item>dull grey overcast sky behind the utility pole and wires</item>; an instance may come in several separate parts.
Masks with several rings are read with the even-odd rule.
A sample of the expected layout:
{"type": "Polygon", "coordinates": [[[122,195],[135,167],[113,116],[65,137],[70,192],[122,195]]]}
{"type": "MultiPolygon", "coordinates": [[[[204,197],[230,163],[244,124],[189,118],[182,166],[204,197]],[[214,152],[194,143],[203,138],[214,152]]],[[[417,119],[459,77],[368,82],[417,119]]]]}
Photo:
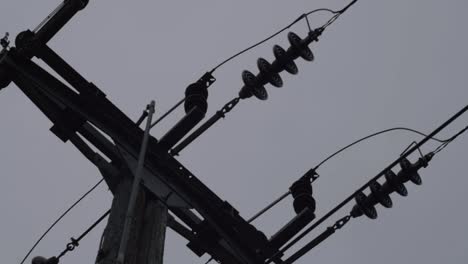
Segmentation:
{"type": "MultiPolygon", "coordinates": [[[[14,38],[35,28],[59,3],[2,1],[0,33],[8,31],[14,38]]],[[[50,46],[136,119],[151,99],[157,114],[163,113],[204,72],[298,15],[347,3],[90,1],[50,46]]],[[[179,160],[249,218],[309,168],[357,138],[395,126],[432,131],[468,102],[467,10],[464,0],[358,1],[313,44],[313,63],[299,59],[297,76],[282,74],[283,88],[267,86],[268,101],[242,101],[179,160]]],[[[319,26],[327,18],[319,14],[310,21],[319,26]]],[[[302,22],[292,30],[307,33],[302,22]]],[[[256,73],[258,57],[272,60],[274,44],[287,47],[286,33],[215,72],[209,114],[237,95],[242,70],[256,73]]],[[[152,135],[161,137],[182,116],[179,110],[152,135]]],[[[19,263],[51,222],[101,176],[70,143],[49,132],[50,121],[14,85],[0,92],[0,120],[0,255],[2,263],[19,263]]],[[[439,136],[447,138],[467,124],[464,116],[439,136]]],[[[323,165],[314,183],[316,214],[325,214],[419,139],[392,132],[323,165]]],[[[436,146],[427,144],[422,151],[436,146]]],[[[354,219],[297,263],[466,263],[467,146],[468,137],[461,137],[421,170],[422,186],[408,183],[408,197],[392,196],[394,208],[378,206],[377,220],[354,219]]],[[[110,204],[110,192],[100,187],[32,255],[59,254],[110,204]]],[[[288,199],[254,224],[270,236],[293,216],[288,199]]],[[[103,228],[96,228],[61,263],[93,263],[103,228]]],[[[169,230],[165,263],[207,260],[186,243],[169,230]]]]}

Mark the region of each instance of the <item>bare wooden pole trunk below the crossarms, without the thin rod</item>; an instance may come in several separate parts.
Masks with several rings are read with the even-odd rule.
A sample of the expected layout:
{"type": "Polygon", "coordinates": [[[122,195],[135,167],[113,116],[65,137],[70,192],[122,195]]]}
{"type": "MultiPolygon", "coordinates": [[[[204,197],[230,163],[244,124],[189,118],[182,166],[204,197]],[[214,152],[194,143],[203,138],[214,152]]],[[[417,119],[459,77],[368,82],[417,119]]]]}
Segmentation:
{"type": "MultiPolygon", "coordinates": [[[[122,180],[116,189],[111,214],[96,258],[97,264],[116,263],[131,187],[131,180],[128,178],[122,180]]],[[[134,216],[131,236],[125,251],[125,263],[163,263],[167,207],[146,190],[140,191],[134,216]]]]}

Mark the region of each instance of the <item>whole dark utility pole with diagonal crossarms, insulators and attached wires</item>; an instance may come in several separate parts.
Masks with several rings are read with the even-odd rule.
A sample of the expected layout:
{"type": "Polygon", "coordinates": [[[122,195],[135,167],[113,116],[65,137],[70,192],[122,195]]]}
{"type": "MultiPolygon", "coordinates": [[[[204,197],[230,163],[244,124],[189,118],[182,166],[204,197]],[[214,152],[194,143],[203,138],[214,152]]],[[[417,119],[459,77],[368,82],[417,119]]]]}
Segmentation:
{"type": "MultiPolygon", "coordinates": [[[[310,169],[290,186],[285,195],[250,220],[244,219],[236,208],[222,200],[176,159],[180,151],[224,118],[242,100],[251,97],[267,100],[268,93],[264,86],[271,84],[282,87],[283,81],[279,73],[286,71],[297,74],[298,68],[294,62],[296,59],[313,61],[314,55],[309,45],[318,41],[326,27],[356,1],[340,11],[334,11],[335,15],[323,26],[314,30],[309,27],[310,31],[304,39],[289,32],[290,46],[283,49],[275,45],[275,60],[272,63],[259,58],[257,75],[243,71],[244,85],[238,96],[188,135],[207,112],[207,89],[215,81],[212,73],[238,54],[207,72],[187,87],[185,98],[176,105],[184,103],[185,116],[160,139],[149,133],[151,127],[165,116],[152,124],[154,101],[143,112],[142,117],[134,122],[108,100],[96,85],[88,82],[47,46],[47,42],[78,11],[85,8],[87,0],[64,0],[36,29],[21,32],[15,40],[16,47],[9,46],[8,35],[1,39],[3,49],[0,52],[0,90],[11,82],[16,84],[52,121],[54,125],[51,132],[64,142],[71,142],[99,169],[114,195],[111,210],[78,239],[72,238],[72,242],[60,255],[49,259],[36,257],[33,264],[57,264],[62,256],[78,246],[85,234],[109,213],[95,261],[97,264],[162,264],[166,226],[187,239],[187,247],[196,255],[209,254],[220,263],[290,264],[341,229],[352,218],[363,215],[371,219],[377,218],[375,206],[380,204],[391,207],[389,195],[394,192],[406,195],[404,183],[412,181],[421,184],[418,170],[427,167],[437,152],[468,128],[450,140],[443,141],[435,151],[426,155],[421,153],[422,157],[415,163],[411,163],[407,156],[419,150],[420,146],[440,130],[467,112],[468,106],[401,154],[371,181],[308,228],[306,227],[315,219],[312,183],[319,177],[316,170],[334,155],[368,137],[348,145],[310,169]],[[45,62],[66,83],[32,61],[33,57],[45,62]],[[146,129],[142,130],[140,124],[145,118],[146,129]],[[401,170],[394,173],[392,169],[398,164],[401,170]],[[377,181],[382,176],[385,176],[384,184],[377,181]],[[363,192],[367,188],[369,195],[363,192]],[[288,195],[293,197],[295,215],[268,238],[251,222],[288,195]],[[349,214],[284,259],[287,257],[285,253],[289,253],[287,250],[353,199],[356,205],[349,214]]],[[[302,15],[294,23],[307,19],[307,15],[313,12],[302,15]]]]}

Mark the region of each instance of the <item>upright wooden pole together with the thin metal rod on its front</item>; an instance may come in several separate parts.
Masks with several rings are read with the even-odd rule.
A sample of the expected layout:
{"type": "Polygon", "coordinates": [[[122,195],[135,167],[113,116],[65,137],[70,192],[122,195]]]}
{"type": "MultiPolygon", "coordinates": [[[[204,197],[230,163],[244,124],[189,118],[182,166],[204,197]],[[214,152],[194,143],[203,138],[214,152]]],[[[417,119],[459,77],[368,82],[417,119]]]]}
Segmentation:
{"type": "Polygon", "coordinates": [[[108,224],[96,259],[99,264],[162,264],[167,223],[167,207],[146,190],[140,191],[146,145],[154,102],[141,144],[133,182],[122,177],[112,201],[108,224]]]}

